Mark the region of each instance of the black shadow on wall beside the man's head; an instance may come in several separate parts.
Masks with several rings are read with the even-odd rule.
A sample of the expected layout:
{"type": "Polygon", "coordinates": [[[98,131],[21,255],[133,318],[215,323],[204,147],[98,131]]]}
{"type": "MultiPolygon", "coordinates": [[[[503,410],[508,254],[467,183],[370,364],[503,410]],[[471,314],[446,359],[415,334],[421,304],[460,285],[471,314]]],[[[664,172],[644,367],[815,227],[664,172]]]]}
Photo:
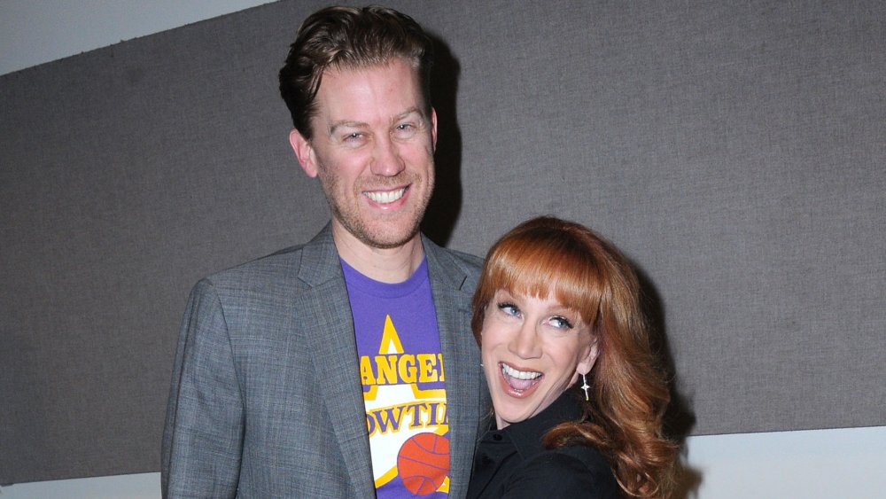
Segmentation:
{"type": "Polygon", "coordinates": [[[431,102],[437,110],[437,152],[434,154],[436,187],[424,214],[422,231],[439,246],[447,246],[462,211],[462,132],[456,104],[461,66],[438,36],[431,68],[431,102]]]}

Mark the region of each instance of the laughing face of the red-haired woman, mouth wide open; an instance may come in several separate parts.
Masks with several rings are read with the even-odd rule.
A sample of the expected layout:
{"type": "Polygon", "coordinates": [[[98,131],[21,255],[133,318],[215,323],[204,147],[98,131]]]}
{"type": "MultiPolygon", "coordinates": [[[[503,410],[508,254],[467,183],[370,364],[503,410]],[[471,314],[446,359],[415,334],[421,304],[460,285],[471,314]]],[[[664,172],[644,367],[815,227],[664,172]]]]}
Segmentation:
{"type": "Polygon", "coordinates": [[[597,357],[590,327],[553,295],[495,292],[486,304],[480,347],[498,428],[554,402],[597,357]]]}

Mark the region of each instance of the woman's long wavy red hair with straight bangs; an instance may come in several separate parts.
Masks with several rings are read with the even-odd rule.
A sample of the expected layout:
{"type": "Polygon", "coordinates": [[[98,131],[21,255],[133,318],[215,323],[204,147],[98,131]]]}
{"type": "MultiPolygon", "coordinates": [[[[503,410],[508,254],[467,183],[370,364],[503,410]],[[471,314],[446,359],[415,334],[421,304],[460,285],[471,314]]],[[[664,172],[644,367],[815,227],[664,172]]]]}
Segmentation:
{"type": "Polygon", "coordinates": [[[545,446],[598,448],[626,495],[666,497],[677,459],[677,445],[662,428],[670,394],[651,347],[640,285],[626,258],[579,223],[539,217],[510,230],[486,255],[471,320],[478,345],[486,306],[498,290],[542,299],[553,295],[591,325],[598,342],[600,354],[587,376],[593,396],[582,400],[584,417],[552,428],[545,446]]]}

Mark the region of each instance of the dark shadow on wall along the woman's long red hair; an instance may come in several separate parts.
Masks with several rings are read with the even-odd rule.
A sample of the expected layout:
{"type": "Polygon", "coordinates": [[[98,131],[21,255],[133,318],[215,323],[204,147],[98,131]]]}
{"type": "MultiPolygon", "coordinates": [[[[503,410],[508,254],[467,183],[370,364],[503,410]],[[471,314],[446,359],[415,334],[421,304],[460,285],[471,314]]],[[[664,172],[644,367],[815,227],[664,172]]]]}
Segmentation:
{"type": "Polygon", "coordinates": [[[696,497],[698,487],[702,483],[702,474],[686,464],[686,438],[692,427],[696,425],[696,416],[692,412],[691,402],[677,391],[676,368],[673,362],[671,347],[668,345],[664,305],[656,286],[643,270],[631,261],[631,266],[640,280],[643,311],[649,320],[652,334],[652,347],[661,355],[664,371],[671,383],[671,403],[664,413],[664,432],[680,444],[680,461],[677,464],[677,483],[672,497],[686,499],[696,497]]]}

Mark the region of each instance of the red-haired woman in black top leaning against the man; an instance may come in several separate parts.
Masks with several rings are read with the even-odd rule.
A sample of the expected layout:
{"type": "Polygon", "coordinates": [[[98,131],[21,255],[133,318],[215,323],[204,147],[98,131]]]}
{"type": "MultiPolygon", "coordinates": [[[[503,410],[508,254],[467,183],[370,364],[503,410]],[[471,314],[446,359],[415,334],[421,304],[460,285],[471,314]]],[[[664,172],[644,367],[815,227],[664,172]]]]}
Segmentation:
{"type": "Polygon", "coordinates": [[[473,312],[495,426],[469,497],[668,494],[669,394],[615,247],[577,223],[524,222],[489,250],[473,312]]]}

